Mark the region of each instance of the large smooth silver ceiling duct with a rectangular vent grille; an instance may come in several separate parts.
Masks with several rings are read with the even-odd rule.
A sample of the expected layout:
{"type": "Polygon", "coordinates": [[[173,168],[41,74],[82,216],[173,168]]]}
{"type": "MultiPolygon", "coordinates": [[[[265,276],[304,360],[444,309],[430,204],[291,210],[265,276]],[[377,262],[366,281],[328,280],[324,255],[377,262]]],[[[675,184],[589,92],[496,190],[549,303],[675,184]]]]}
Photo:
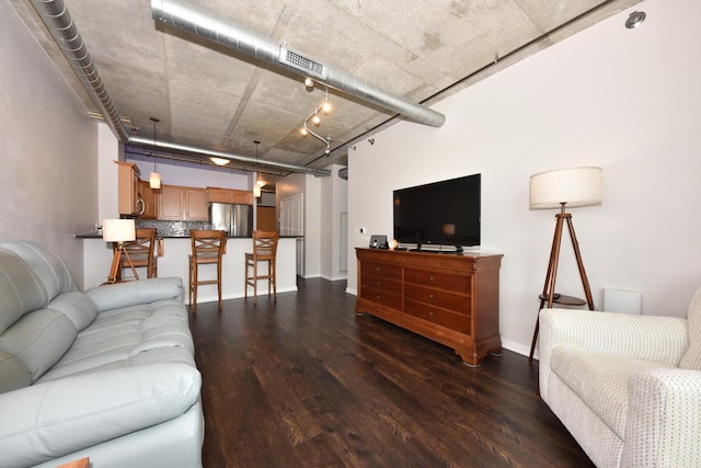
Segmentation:
{"type": "Polygon", "coordinates": [[[269,37],[241,26],[230,20],[195,7],[186,0],[151,0],[154,20],[229,49],[265,61],[303,78],[311,78],[330,88],[343,91],[366,103],[401,114],[413,122],[440,127],[446,116],[400,95],[383,91],[352,75],[306,57],[279,45],[269,37]]]}

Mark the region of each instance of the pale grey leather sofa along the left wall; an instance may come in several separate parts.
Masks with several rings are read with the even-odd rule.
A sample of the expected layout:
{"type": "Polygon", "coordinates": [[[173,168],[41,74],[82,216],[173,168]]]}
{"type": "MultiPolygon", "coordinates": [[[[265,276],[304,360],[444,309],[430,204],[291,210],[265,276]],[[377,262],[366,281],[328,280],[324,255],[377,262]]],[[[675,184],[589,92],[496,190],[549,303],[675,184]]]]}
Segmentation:
{"type": "Polygon", "coordinates": [[[200,375],[180,278],[78,292],[64,261],[0,242],[0,467],[200,467],[200,375]]]}

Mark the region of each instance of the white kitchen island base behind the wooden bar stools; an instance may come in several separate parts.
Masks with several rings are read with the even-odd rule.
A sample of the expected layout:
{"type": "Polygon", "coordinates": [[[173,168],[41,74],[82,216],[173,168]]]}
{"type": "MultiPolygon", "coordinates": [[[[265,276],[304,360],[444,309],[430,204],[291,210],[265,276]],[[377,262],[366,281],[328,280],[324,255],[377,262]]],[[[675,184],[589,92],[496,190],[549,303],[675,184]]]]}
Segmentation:
{"type": "MultiPolygon", "coordinates": [[[[107,281],[110,265],[112,265],[112,244],[102,240],[97,233],[79,235],[83,239],[83,287],[85,289],[97,286],[107,281]]],[[[158,276],[179,276],[185,286],[185,303],[187,304],[187,265],[191,253],[189,237],[159,237],[162,239],[161,256],[158,259],[158,276]]],[[[281,237],[277,243],[277,292],[286,293],[297,290],[297,242],[296,237],[281,237]]],[[[222,299],[233,299],[244,296],[244,254],[253,249],[253,240],[250,238],[227,238],[227,248],[222,256],[221,265],[221,296],[222,299]]],[[[265,263],[258,265],[265,269],[265,263]]],[[[265,271],[265,270],[263,270],[265,271]]],[[[138,270],[139,276],[146,277],[146,270],[138,270]]],[[[215,278],[215,265],[202,265],[200,278],[215,278]]],[[[125,270],[125,275],[130,272],[125,270]]],[[[267,282],[258,285],[258,297],[267,294],[267,282]],[[263,292],[263,294],[261,294],[263,292]]],[[[249,295],[253,295],[252,288],[249,295]]],[[[217,286],[203,285],[197,289],[197,303],[217,300],[217,286]]]]}

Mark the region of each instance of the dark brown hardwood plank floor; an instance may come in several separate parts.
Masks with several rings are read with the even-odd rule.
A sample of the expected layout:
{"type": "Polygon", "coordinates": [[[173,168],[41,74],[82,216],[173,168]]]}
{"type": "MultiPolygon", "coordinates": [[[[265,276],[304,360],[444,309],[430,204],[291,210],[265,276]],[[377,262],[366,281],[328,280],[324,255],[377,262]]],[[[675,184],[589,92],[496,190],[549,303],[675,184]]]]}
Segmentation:
{"type": "Polygon", "coordinates": [[[479,368],[371,316],[345,282],[200,304],[205,467],[590,467],[505,351],[479,368]]]}

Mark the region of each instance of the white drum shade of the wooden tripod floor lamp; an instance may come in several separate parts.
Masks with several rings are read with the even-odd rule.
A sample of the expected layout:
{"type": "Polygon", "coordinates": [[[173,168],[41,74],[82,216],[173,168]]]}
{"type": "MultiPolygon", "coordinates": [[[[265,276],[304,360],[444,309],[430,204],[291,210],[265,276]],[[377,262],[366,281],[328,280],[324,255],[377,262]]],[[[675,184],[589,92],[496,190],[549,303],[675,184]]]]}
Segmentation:
{"type": "Polygon", "coordinates": [[[570,168],[530,176],[530,209],[601,204],[601,168],[570,168]]]}

